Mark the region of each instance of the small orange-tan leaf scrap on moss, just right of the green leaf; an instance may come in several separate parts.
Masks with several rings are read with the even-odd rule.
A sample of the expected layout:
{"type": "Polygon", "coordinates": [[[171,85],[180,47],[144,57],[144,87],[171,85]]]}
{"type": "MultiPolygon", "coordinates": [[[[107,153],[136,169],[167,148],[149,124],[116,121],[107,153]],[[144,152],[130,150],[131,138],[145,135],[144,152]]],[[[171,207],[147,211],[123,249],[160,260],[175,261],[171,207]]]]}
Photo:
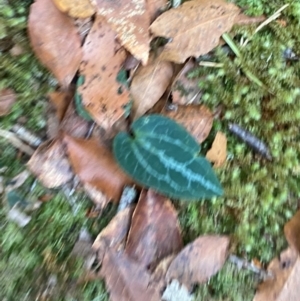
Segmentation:
{"type": "Polygon", "coordinates": [[[226,162],[227,138],[222,132],[217,132],[211,149],[206,153],[206,159],[214,162],[214,167],[221,167],[226,162]]]}

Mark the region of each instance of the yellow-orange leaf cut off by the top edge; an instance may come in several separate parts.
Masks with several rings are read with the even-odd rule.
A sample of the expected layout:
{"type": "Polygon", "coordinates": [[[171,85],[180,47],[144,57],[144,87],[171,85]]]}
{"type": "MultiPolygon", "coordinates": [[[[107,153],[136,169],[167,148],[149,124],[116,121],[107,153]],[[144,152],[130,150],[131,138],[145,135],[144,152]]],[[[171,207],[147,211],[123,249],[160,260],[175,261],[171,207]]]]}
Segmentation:
{"type": "Polygon", "coordinates": [[[87,18],[95,13],[90,0],[52,0],[63,13],[73,18],[87,18]]]}

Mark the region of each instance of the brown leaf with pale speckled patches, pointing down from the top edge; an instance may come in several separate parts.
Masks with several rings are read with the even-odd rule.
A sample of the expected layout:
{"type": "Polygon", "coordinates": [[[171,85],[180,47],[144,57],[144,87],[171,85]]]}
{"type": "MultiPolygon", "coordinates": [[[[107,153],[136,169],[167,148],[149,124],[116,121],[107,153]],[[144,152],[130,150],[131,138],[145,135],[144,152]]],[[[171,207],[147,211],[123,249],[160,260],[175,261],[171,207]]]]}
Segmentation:
{"type": "Polygon", "coordinates": [[[150,16],[145,0],[96,0],[97,13],[116,31],[121,44],[143,65],[149,56],[150,16]]]}

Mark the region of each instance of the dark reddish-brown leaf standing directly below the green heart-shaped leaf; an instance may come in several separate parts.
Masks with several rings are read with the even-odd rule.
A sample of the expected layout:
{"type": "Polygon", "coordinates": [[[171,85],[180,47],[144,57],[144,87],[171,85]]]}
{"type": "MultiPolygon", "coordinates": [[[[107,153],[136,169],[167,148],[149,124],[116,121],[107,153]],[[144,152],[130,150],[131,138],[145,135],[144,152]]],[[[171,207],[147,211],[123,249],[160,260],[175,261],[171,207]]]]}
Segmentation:
{"type": "Polygon", "coordinates": [[[143,190],[132,216],[126,253],[144,267],[155,267],[182,248],[180,227],[171,201],[143,190]]]}

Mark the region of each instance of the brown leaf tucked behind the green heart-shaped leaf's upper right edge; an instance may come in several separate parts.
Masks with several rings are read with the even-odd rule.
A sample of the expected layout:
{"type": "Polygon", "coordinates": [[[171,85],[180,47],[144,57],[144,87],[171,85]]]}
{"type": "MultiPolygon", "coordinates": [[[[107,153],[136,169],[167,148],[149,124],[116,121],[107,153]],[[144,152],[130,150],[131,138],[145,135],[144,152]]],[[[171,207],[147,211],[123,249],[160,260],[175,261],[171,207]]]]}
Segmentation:
{"type": "Polygon", "coordinates": [[[177,106],[163,114],[183,125],[199,143],[207,138],[213,124],[213,114],[204,105],[177,106]]]}

